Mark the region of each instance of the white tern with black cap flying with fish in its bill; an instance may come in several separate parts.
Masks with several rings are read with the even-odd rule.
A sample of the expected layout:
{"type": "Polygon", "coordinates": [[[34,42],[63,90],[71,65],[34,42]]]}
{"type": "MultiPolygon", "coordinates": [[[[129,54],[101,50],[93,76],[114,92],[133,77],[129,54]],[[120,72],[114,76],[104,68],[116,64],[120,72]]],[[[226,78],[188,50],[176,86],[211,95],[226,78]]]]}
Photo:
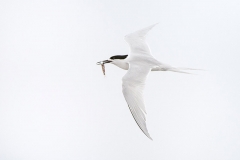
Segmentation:
{"type": "Polygon", "coordinates": [[[104,64],[106,63],[111,63],[121,69],[128,70],[122,78],[122,92],[137,125],[151,140],[152,138],[146,126],[146,109],[143,100],[143,90],[149,72],[173,71],[188,73],[183,70],[190,69],[172,67],[159,62],[151,55],[150,48],[146,42],[146,35],[155,25],[157,24],[125,36],[125,40],[130,46],[129,55],[115,55],[108,60],[97,62],[98,65],[102,65],[104,75],[104,64]]]}

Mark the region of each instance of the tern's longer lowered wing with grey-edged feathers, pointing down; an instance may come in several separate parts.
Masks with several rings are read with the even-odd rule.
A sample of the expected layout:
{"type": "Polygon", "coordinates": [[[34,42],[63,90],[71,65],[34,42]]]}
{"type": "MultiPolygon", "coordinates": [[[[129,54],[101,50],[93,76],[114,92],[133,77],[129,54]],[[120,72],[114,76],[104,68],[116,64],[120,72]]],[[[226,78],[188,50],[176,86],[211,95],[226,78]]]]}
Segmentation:
{"type": "Polygon", "coordinates": [[[128,72],[123,77],[122,91],[128,107],[139,128],[150,139],[146,126],[146,110],[143,101],[143,89],[151,68],[137,64],[129,64],[128,72]]]}

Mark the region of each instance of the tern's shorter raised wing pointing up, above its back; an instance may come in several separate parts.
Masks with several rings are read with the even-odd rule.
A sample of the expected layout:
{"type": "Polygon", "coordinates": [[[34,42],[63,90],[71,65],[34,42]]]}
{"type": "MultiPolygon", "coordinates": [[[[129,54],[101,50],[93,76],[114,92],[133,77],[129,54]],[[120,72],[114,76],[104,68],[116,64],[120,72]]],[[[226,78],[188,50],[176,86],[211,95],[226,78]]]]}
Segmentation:
{"type": "Polygon", "coordinates": [[[146,43],[146,35],[155,25],[151,25],[139,31],[130,33],[125,36],[125,40],[130,46],[131,54],[151,54],[151,51],[146,43]]]}

